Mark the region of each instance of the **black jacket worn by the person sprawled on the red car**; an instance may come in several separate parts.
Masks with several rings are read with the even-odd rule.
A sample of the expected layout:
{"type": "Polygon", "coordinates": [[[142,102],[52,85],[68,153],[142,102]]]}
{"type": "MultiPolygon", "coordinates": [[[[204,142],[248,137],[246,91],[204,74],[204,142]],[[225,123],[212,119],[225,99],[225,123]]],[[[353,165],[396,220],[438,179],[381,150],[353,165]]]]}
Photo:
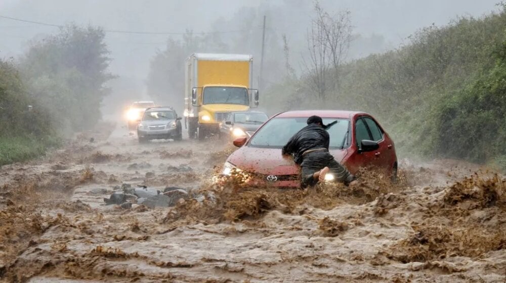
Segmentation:
{"type": "Polygon", "coordinates": [[[282,154],[293,154],[293,161],[302,163],[302,154],[313,149],[327,149],[330,141],[328,132],[318,124],[309,124],[294,134],[283,147],[282,154]]]}

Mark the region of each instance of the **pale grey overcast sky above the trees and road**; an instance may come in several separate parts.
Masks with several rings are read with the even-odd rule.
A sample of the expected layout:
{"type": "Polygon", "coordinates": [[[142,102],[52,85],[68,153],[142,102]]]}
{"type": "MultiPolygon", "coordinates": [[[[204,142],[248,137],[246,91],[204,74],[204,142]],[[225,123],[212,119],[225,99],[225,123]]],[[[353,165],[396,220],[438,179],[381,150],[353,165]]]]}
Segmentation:
{"type": "MultiPolygon", "coordinates": [[[[498,0],[323,0],[329,11],[349,9],[355,32],[385,38],[390,46],[406,42],[417,29],[447,24],[459,15],[480,17],[497,10],[498,0]]],[[[291,42],[306,34],[312,1],[305,0],[0,0],[0,16],[62,25],[75,22],[108,30],[149,32],[210,31],[218,19],[230,19],[242,7],[281,6],[292,15],[271,31],[285,33],[291,42]]],[[[234,26],[228,27],[233,31],[234,26]]],[[[56,32],[56,27],[0,18],[0,57],[16,57],[34,36],[56,32]]],[[[227,30],[221,30],[227,31],[227,30]]],[[[178,37],[180,35],[172,35],[178,37]]],[[[149,59],[163,49],[168,35],[107,33],[113,59],[111,71],[143,81],[149,59]]],[[[363,54],[366,55],[366,54],[363,54]]]]}

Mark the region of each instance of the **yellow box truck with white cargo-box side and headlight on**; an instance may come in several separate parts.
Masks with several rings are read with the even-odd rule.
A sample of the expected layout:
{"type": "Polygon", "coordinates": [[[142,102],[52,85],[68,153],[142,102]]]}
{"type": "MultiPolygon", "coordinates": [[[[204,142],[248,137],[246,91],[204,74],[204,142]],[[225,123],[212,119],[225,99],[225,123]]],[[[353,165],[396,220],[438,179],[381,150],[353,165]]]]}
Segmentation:
{"type": "Polygon", "coordinates": [[[251,55],[195,53],[185,67],[183,115],[190,138],[219,134],[229,112],[258,106],[259,92],[251,88],[251,55]]]}

